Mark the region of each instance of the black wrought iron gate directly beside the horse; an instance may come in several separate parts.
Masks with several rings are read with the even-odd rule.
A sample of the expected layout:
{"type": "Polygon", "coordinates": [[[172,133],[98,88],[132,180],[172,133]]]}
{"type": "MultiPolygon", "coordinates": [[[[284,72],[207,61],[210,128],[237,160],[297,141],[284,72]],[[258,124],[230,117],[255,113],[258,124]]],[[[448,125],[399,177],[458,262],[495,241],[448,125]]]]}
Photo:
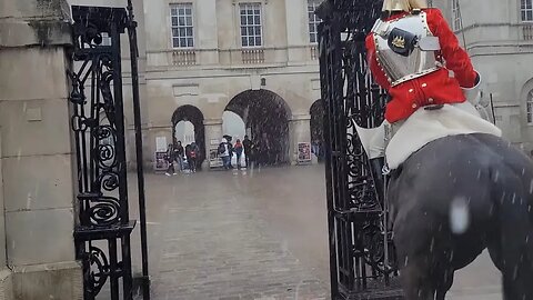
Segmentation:
{"type": "Polygon", "coordinates": [[[402,299],[382,186],[373,178],[354,124],[383,121],[386,93],[373,81],[364,39],[382,1],[325,0],[318,9],[325,110],[332,299],[402,299]]]}

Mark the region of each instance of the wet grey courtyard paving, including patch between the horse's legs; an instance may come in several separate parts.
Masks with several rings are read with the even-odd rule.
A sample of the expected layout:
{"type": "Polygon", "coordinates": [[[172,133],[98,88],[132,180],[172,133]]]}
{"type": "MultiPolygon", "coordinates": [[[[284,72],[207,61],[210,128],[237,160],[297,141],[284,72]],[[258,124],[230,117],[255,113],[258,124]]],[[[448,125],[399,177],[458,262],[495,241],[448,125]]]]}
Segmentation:
{"type": "MultiPolygon", "coordinates": [[[[152,299],[329,299],[322,166],[145,180],[152,299]]],[[[447,299],[502,299],[487,254],[456,273],[447,299]]]]}

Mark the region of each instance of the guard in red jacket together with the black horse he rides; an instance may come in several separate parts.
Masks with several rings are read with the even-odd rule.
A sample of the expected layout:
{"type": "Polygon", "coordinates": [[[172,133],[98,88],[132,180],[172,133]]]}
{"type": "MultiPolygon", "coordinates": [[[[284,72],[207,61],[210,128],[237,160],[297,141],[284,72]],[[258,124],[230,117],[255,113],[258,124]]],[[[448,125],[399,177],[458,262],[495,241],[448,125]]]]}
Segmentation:
{"type": "Polygon", "coordinates": [[[480,117],[481,77],[441,12],[385,0],[365,44],[391,101],[381,127],[358,133],[373,172],[383,156],[391,170],[384,211],[405,299],[444,300],[484,249],[504,299],[533,299],[533,161],[480,117]]]}

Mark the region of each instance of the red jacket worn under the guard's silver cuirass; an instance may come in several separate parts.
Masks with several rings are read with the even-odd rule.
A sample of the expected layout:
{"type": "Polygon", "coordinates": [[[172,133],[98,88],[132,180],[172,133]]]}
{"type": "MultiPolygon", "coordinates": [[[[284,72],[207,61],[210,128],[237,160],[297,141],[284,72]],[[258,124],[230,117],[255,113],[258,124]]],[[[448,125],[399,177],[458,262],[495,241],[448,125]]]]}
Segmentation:
{"type": "MultiPolygon", "coordinates": [[[[472,88],[475,84],[476,72],[469,54],[459,46],[457,38],[450,30],[441,11],[438,9],[423,11],[426,13],[431,32],[439,38],[441,44],[436,56],[441,56],[445,61],[445,68],[439,71],[391,87],[385,73],[378,64],[373,33],[366,37],[368,59],[372,74],[378,84],[386,89],[392,97],[385,110],[385,119],[391,123],[409,118],[420,107],[464,102],[466,99],[461,87],[472,88]],[[449,70],[452,70],[454,76],[451,76],[449,70]]],[[[405,14],[408,12],[393,16],[388,20],[405,14]]]]}

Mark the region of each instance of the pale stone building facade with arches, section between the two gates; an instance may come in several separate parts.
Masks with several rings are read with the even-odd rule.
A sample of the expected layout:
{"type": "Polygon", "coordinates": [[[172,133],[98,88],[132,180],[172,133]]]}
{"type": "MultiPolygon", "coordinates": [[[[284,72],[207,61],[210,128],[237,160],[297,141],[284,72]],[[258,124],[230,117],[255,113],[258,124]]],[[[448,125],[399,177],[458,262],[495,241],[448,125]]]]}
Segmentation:
{"type": "MultiPolygon", "coordinates": [[[[179,121],[172,120],[173,114],[181,108],[201,112],[202,120],[193,123],[197,134],[198,127],[203,126],[203,141],[209,151],[223,134],[224,110],[237,112],[245,123],[253,122],[248,118],[275,118],[247,116],[244,111],[247,101],[275,97],[286,113],[283,156],[295,161],[298,142],[311,141],[310,108],[320,98],[316,38],[310,32],[308,13],[308,6],[318,3],[316,0],[144,1],[147,156],[154,152],[157,137],[171,141],[173,123],[179,121]],[[238,101],[239,108],[232,109],[231,101],[247,98],[247,93],[252,99],[238,101]]],[[[187,118],[183,117],[187,113],[178,114],[180,119],[187,118]]]]}

